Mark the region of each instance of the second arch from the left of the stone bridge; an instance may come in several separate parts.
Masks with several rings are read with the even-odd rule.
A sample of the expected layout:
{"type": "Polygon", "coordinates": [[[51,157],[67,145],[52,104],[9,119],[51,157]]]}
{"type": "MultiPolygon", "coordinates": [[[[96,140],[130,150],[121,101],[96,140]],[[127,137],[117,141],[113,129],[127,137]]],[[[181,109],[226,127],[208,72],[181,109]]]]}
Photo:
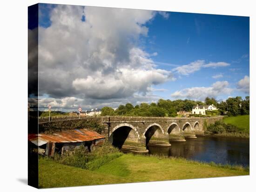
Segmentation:
{"type": "Polygon", "coordinates": [[[152,123],[145,129],[143,135],[146,139],[146,147],[169,147],[168,135],[164,134],[163,128],[158,123],[152,123]]]}

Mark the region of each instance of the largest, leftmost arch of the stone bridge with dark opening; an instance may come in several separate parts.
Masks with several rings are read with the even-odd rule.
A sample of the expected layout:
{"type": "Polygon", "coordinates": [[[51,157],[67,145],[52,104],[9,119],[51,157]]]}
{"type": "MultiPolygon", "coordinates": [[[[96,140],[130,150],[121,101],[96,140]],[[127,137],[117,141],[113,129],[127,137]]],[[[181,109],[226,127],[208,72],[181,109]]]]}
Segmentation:
{"type": "Polygon", "coordinates": [[[137,129],[129,123],[121,123],[115,126],[109,133],[108,141],[114,147],[121,149],[125,144],[138,143],[140,135],[137,129]]]}

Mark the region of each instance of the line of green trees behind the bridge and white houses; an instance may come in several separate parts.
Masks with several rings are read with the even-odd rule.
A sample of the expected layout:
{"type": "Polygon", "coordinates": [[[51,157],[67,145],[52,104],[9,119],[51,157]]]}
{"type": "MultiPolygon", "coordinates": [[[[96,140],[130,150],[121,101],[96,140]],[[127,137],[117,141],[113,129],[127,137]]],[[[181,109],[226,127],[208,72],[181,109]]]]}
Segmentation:
{"type": "Polygon", "coordinates": [[[131,103],[119,105],[117,109],[111,107],[103,107],[101,109],[102,116],[155,116],[155,117],[175,117],[178,111],[192,111],[194,105],[215,105],[221,115],[248,115],[249,114],[249,96],[245,97],[229,97],[226,102],[218,102],[215,98],[206,97],[204,102],[193,100],[164,100],[160,99],[157,103],[142,102],[140,105],[133,106],[131,103]]]}

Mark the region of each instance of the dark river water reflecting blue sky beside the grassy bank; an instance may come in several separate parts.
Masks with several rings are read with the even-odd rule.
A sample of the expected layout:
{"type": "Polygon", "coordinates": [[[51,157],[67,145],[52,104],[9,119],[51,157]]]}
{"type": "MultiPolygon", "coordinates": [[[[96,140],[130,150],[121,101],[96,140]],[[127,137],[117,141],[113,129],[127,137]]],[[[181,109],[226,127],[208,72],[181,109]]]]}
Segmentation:
{"type": "Polygon", "coordinates": [[[148,147],[149,154],[249,166],[249,139],[200,136],[170,143],[171,147],[148,147]]]}

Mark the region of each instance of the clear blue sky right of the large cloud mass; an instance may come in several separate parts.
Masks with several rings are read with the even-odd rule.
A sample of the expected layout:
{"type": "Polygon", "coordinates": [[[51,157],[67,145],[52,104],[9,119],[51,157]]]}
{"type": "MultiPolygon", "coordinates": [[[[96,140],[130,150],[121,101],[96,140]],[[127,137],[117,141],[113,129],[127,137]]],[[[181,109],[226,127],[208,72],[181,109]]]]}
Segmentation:
{"type": "MultiPolygon", "coordinates": [[[[190,87],[209,87],[216,80],[226,80],[230,87],[245,75],[249,76],[249,17],[225,16],[213,14],[169,12],[169,18],[157,15],[150,22],[145,48],[148,52],[157,52],[155,62],[183,65],[203,59],[211,62],[223,61],[230,65],[223,68],[206,68],[189,76],[183,76],[175,82],[160,86],[171,90],[162,93],[168,96],[180,89],[190,87]],[[213,78],[217,74],[223,77],[213,78]]],[[[157,64],[159,64],[157,63],[157,64]]],[[[173,66],[159,64],[159,68],[172,70],[173,66]]],[[[230,96],[247,96],[234,91],[230,96]]],[[[227,96],[219,95],[225,99],[227,96]]]]}

